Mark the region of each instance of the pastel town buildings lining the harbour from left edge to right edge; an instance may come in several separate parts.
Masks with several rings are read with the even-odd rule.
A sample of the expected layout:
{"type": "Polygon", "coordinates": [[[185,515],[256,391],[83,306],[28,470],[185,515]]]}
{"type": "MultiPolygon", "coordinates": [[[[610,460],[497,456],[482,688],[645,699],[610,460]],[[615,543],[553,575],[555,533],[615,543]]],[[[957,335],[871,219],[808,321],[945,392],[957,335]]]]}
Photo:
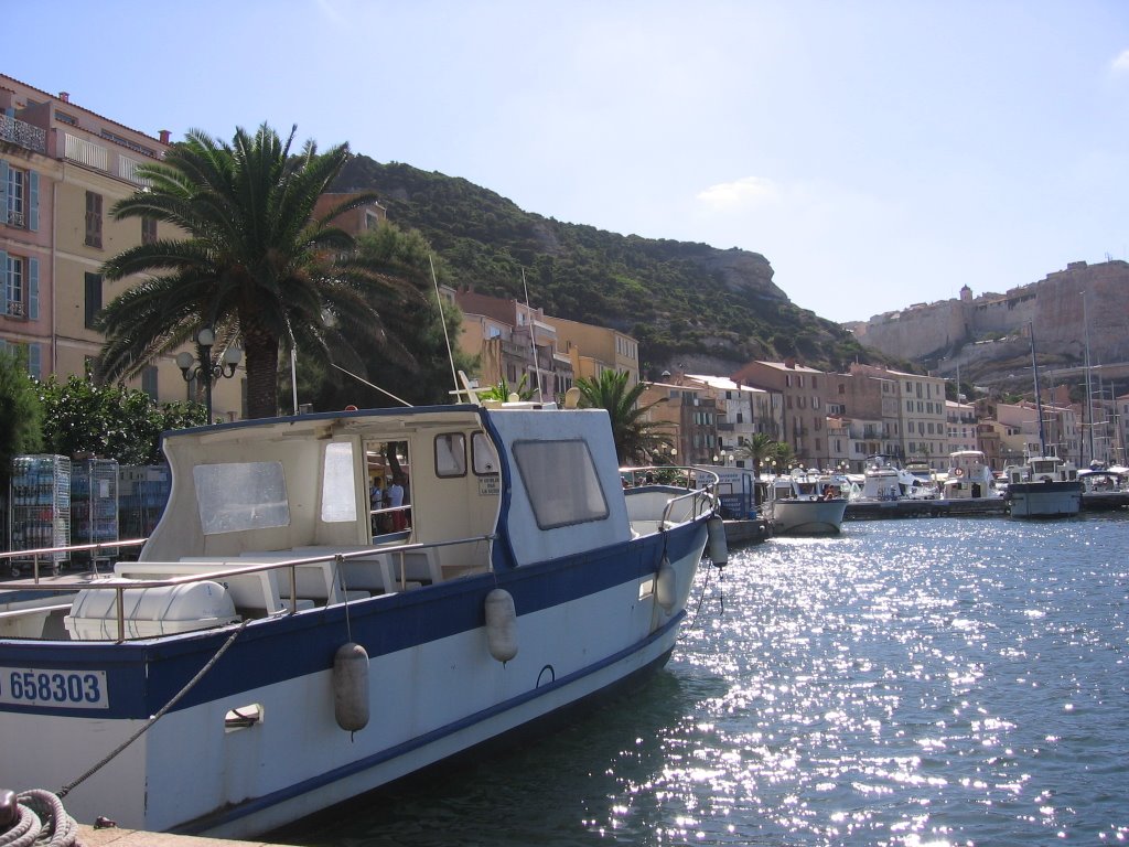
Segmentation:
{"type": "MultiPolygon", "coordinates": [[[[108,212],[142,181],[139,165],[160,159],[169,132],[151,137],[10,77],[0,77],[0,349],[19,350],[28,372],[85,373],[99,355],[96,316],[131,282],[108,282],[103,263],[168,235],[157,222],[108,212]]],[[[320,208],[338,198],[326,197],[320,208]]],[[[353,235],[387,219],[380,203],[339,220],[353,235]]],[[[742,447],[756,434],[790,446],[807,468],[859,472],[873,454],[943,470],[948,454],[980,449],[1001,470],[1021,460],[1038,433],[1035,405],[988,393],[946,399],[952,375],[851,365],[825,373],[802,361],[750,361],[730,374],[641,373],[639,346],[614,329],[549,315],[531,303],[444,287],[462,312],[458,344],[480,363],[482,386],[523,379],[535,399],[562,400],[576,379],[627,373],[645,391],[641,405],[662,425],[664,461],[749,464],[742,447]],[[649,377],[649,378],[648,378],[649,377]]],[[[183,357],[183,352],[182,352],[183,357]]],[[[238,376],[237,363],[230,363],[238,376]]],[[[201,382],[177,357],[156,357],[135,379],[159,402],[199,398],[201,382]]],[[[207,386],[217,420],[246,416],[239,378],[207,386]]],[[[953,392],[948,392],[952,396],[953,392]]],[[[1067,386],[1045,390],[1047,443],[1077,464],[1124,461],[1129,395],[1070,403],[1067,386]]],[[[772,468],[760,468],[771,471],[772,468]]]]}

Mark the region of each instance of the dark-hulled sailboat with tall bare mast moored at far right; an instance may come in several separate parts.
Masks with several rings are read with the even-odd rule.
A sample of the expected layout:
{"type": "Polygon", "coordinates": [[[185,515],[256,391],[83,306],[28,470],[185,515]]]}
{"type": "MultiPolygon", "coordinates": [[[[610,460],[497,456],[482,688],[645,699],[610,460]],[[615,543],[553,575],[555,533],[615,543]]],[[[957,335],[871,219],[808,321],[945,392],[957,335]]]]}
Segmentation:
{"type": "Polygon", "coordinates": [[[1012,517],[1069,517],[1077,515],[1082,508],[1082,483],[1075,464],[1057,455],[1047,445],[1035,361],[1035,330],[1031,323],[1027,329],[1031,337],[1031,374],[1035,386],[1039,444],[1025,445],[1023,464],[1004,469],[1007,475],[1007,498],[1012,517]]]}

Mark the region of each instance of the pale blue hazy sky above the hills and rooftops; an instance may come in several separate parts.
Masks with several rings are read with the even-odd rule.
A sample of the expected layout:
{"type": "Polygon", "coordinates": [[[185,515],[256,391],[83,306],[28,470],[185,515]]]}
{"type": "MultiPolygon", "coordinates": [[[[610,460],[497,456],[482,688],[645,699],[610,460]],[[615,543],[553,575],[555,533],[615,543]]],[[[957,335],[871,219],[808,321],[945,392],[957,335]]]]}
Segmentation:
{"type": "MultiPolygon", "coordinates": [[[[762,254],[844,322],[1129,260],[1123,0],[0,0],[0,72],[762,254]]],[[[531,291],[535,299],[535,292],[531,291]]]]}

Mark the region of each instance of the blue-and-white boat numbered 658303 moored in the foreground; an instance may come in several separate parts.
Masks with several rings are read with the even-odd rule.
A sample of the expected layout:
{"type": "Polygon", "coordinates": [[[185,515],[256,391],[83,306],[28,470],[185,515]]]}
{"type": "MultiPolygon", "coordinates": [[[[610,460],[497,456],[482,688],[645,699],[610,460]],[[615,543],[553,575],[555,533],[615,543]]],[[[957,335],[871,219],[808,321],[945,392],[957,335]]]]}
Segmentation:
{"type": "Polygon", "coordinates": [[[164,451],[135,561],[0,593],[0,786],[79,821],[246,838],[528,731],[660,667],[708,535],[725,560],[712,487],[625,491],[602,410],[314,413],[164,451]],[[410,468],[406,539],[373,536],[371,455],[410,468]]]}

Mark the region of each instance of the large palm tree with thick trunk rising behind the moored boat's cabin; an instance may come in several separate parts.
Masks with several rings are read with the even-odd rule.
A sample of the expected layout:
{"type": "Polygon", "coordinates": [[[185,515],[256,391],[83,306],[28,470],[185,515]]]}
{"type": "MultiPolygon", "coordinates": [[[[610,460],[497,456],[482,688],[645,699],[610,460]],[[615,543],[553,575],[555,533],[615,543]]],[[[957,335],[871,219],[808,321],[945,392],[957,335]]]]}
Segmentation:
{"type": "Polygon", "coordinates": [[[291,156],[296,132],[283,142],[264,123],[254,134],[237,129],[228,145],[191,130],[163,161],[140,168],[148,187],[116,203],[114,218],[154,218],[185,237],[131,247],[104,265],[113,280],[147,278],[99,316],[103,378],[137,375],[210,326],[215,355],[242,344],[247,412],[262,418],[278,411],[283,344],[324,359],[332,350],[356,365],[347,338],[379,332],[365,296],[375,277],[331,221],[375,198],[351,197],[315,219],[349,147],[318,154],[307,141],[291,156]]]}

